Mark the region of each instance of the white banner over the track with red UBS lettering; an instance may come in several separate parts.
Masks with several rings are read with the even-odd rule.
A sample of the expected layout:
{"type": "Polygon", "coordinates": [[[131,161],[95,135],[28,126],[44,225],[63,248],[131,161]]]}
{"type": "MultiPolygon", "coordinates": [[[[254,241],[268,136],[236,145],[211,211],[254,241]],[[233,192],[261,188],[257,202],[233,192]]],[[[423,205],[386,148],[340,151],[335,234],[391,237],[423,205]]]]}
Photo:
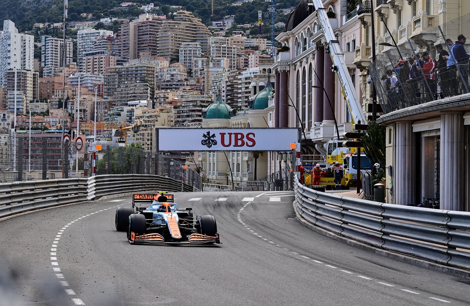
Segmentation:
{"type": "Polygon", "coordinates": [[[299,142],[298,128],[162,128],[159,151],[289,151],[299,142]]]}

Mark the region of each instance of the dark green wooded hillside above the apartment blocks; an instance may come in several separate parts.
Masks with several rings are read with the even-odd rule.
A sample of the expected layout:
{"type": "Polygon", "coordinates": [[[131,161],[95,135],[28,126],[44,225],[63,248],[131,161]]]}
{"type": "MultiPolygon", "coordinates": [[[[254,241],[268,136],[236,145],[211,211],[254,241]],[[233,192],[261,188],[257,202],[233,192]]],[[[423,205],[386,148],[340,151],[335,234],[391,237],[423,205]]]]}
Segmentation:
{"type": "MultiPolygon", "coordinates": [[[[297,5],[299,0],[278,0],[276,9],[289,8],[297,5]]],[[[104,17],[135,17],[144,13],[141,6],[150,2],[140,1],[137,5],[130,6],[126,10],[121,8],[117,0],[71,0],[68,8],[68,22],[85,21],[82,13],[92,14],[94,20],[104,17]]],[[[270,15],[267,13],[271,2],[265,0],[253,0],[240,5],[232,5],[234,0],[215,0],[214,15],[211,16],[210,0],[160,0],[154,2],[152,14],[164,14],[171,18],[170,12],[178,8],[171,6],[182,6],[183,9],[191,11],[200,17],[206,25],[212,21],[222,19],[227,15],[235,15],[236,24],[255,23],[258,21],[258,10],[263,12],[265,23],[270,23],[270,15]]],[[[34,23],[60,23],[63,20],[63,0],[2,0],[0,1],[0,21],[12,20],[18,30],[31,31],[34,23]]],[[[276,14],[276,22],[285,22],[287,15],[276,14]]],[[[0,28],[3,23],[0,24],[0,28]]]]}

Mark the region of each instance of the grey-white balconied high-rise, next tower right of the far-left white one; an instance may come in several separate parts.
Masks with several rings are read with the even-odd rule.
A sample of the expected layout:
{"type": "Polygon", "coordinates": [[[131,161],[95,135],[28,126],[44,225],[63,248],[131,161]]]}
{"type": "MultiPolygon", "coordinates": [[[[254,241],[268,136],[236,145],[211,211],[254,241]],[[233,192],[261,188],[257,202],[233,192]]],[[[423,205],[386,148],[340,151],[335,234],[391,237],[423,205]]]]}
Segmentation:
{"type": "MultiPolygon", "coordinates": [[[[58,76],[63,67],[63,39],[51,36],[41,37],[41,67],[43,77],[58,76]]],[[[65,40],[65,65],[73,61],[73,43],[65,40]]]]}

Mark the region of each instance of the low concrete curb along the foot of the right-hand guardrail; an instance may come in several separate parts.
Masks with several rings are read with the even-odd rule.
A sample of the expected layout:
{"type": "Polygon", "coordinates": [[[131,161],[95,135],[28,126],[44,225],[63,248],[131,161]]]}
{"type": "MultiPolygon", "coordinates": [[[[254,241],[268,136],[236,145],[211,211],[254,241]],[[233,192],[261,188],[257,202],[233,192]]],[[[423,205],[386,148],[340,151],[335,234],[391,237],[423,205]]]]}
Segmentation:
{"type": "Polygon", "coordinates": [[[296,219],[300,223],[302,223],[302,225],[304,225],[304,226],[308,227],[309,229],[312,229],[312,230],[314,230],[314,231],[316,231],[316,232],[318,232],[322,235],[333,238],[337,241],[341,241],[345,244],[352,245],[352,246],[357,247],[361,250],[376,253],[380,256],[392,258],[394,260],[399,260],[399,261],[402,261],[402,262],[410,263],[414,266],[426,268],[426,269],[433,270],[433,271],[438,271],[438,272],[441,272],[441,273],[448,273],[448,274],[452,274],[452,275],[455,275],[455,276],[460,276],[460,277],[463,277],[463,278],[470,278],[470,271],[468,271],[468,270],[464,270],[464,269],[461,269],[461,268],[454,268],[454,267],[444,266],[444,265],[441,265],[441,264],[436,263],[436,262],[423,260],[423,259],[420,259],[420,258],[416,258],[416,257],[413,257],[413,256],[409,256],[409,255],[405,255],[405,254],[401,254],[401,253],[397,253],[397,252],[392,252],[392,251],[379,249],[379,248],[376,248],[374,246],[366,245],[365,243],[362,243],[362,242],[359,242],[359,241],[356,241],[356,240],[352,240],[350,238],[340,236],[336,233],[330,232],[329,230],[322,229],[318,226],[313,225],[311,222],[306,220],[304,217],[302,217],[298,213],[297,201],[294,201],[292,205],[294,207],[294,212],[295,212],[296,219]]]}

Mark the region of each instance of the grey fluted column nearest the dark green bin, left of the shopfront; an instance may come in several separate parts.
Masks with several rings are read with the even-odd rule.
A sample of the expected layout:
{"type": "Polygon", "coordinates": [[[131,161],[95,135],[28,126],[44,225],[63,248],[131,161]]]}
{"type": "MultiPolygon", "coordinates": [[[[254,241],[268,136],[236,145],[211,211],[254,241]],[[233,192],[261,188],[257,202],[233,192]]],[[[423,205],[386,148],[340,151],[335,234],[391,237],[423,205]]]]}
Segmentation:
{"type": "Polygon", "coordinates": [[[395,145],[393,147],[393,204],[407,205],[416,203],[415,175],[415,135],[413,122],[395,123],[395,145]]]}

